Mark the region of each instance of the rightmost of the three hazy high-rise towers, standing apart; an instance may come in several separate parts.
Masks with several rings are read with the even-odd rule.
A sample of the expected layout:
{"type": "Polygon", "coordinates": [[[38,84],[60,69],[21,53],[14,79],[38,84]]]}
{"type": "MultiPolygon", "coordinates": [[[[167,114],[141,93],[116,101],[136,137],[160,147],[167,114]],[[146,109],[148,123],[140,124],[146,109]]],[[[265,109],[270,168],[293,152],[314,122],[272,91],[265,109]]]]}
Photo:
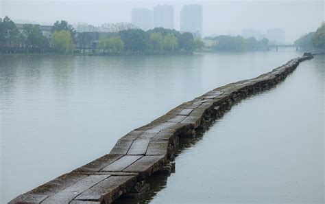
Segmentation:
{"type": "Polygon", "coordinates": [[[184,5],[180,11],[180,31],[202,36],[202,5],[184,5]]]}

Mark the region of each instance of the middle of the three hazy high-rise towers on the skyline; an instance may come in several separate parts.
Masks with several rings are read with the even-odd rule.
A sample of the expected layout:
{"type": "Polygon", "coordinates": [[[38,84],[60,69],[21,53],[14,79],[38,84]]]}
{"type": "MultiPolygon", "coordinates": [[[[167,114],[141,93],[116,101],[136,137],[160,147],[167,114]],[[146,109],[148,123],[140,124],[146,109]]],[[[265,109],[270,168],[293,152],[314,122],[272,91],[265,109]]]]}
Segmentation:
{"type": "Polygon", "coordinates": [[[156,5],[154,7],[154,27],[173,29],[172,5],[156,5]]]}

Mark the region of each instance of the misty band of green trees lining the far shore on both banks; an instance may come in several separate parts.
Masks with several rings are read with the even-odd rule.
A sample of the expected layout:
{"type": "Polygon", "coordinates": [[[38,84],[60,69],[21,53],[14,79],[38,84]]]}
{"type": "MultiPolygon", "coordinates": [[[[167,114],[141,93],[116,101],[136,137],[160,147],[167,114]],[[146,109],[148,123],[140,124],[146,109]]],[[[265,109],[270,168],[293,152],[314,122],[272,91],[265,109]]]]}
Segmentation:
{"type": "MultiPolygon", "coordinates": [[[[202,39],[191,32],[163,27],[144,31],[131,23],[110,26],[114,29],[77,32],[73,25],[64,20],[56,21],[52,26],[19,25],[5,16],[0,19],[0,55],[175,55],[194,52],[268,51],[269,46],[272,46],[267,38],[256,40],[254,37],[220,35],[202,39]]],[[[80,27],[78,29],[81,31],[80,27]]],[[[304,50],[324,52],[324,22],[317,31],[302,36],[294,45],[304,50]]]]}

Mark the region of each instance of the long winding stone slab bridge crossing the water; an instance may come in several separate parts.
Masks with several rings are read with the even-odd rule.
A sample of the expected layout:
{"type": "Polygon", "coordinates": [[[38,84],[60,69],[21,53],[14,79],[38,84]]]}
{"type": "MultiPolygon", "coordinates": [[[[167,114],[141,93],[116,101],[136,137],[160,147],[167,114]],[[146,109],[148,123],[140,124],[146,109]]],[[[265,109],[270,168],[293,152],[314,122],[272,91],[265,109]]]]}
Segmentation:
{"type": "Polygon", "coordinates": [[[178,138],[194,135],[232,104],[284,80],[311,54],[250,80],[227,84],[121,137],[108,155],[17,196],[10,203],[112,203],[122,194],[139,193],[154,172],[170,172],[178,138]]]}

